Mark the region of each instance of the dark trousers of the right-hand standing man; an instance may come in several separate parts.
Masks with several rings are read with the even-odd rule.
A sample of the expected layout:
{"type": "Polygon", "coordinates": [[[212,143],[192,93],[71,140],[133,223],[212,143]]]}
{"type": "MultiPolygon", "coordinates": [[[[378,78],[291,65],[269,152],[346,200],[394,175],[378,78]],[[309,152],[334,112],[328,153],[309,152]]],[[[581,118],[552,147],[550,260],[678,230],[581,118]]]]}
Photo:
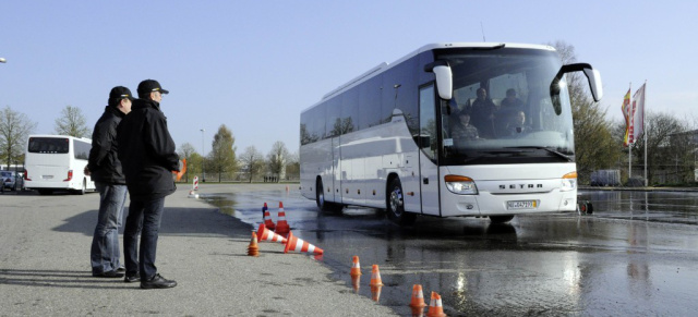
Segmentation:
{"type": "Polygon", "coordinates": [[[129,206],[127,225],[123,229],[127,275],[133,276],[141,272],[141,281],[149,280],[157,273],[155,255],[164,209],[165,197],[145,202],[131,200],[129,206]],[[140,253],[139,234],[141,234],[140,253]]]}

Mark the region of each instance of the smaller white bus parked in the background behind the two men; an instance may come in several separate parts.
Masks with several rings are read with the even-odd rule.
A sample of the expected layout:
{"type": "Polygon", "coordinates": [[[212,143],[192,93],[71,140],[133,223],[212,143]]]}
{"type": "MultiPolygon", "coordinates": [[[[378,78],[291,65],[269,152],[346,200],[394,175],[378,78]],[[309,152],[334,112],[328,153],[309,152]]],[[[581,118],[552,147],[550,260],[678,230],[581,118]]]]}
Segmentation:
{"type": "Polygon", "coordinates": [[[25,155],[25,187],[41,195],[53,191],[80,195],[94,191],[95,183],[84,172],[91,148],[89,138],[31,135],[25,155]]]}

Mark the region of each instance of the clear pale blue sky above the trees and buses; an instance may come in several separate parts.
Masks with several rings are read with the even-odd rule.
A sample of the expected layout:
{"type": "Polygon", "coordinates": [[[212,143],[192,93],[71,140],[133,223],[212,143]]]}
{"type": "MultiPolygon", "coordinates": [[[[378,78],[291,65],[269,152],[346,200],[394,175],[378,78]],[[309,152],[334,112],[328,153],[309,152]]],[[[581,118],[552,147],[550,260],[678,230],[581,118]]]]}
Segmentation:
{"type": "MultiPolygon", "coordinates": [[[[647,81],[648,111],[695,118],[697,1],[3,1],[0,107],[52,133],[65,106],[92,127],[109,90],[145,78],[178,147],[298,151],[301,110],[431,42],[564,40],[601,72],[603,107],[647,81]],[[484,34],[484,36],[483,36],[484,34]],[[201,130],[205,133],[202,135],[201,130]]],[[[691,119],[693,120],[693,119],[691,119]]]]}

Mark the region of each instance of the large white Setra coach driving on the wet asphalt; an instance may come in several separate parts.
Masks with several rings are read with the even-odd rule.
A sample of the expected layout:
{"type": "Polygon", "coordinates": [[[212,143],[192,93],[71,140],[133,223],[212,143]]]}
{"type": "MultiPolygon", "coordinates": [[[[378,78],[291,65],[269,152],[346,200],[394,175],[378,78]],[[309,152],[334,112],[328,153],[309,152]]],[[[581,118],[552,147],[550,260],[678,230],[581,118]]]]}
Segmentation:
{"type": "Polygon", "coordinates": [[[600,100],[598,71],[563,65],[549,46],[434,44],[380,64],[302,111],[301,193],[321,209],[385,208],[400,224],[574,211],[565,74],[577,71],[600,100]],[[466,134],[454,132],[460,113],[466,134]]]}

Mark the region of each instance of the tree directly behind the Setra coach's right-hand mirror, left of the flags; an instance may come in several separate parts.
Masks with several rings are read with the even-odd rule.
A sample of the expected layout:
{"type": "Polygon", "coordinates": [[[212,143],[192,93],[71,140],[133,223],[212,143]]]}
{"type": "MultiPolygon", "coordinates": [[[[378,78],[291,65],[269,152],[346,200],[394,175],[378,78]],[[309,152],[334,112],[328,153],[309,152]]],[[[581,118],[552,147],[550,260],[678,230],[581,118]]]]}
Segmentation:
{"type": "MultiPolygon", "coordinates": [[[[558,51],[563,64],[577,60],[575,47],[565,41],[551,44],[558,51]]],[[[575,155],[580,183],[588,183],[591,172],[609,169],[617,163],[622,153],[613,139],[613,122],[605,119],[606,109],[594,102],[589,87],[579,73],[565,75],[575,129],[575,155]]]]}

